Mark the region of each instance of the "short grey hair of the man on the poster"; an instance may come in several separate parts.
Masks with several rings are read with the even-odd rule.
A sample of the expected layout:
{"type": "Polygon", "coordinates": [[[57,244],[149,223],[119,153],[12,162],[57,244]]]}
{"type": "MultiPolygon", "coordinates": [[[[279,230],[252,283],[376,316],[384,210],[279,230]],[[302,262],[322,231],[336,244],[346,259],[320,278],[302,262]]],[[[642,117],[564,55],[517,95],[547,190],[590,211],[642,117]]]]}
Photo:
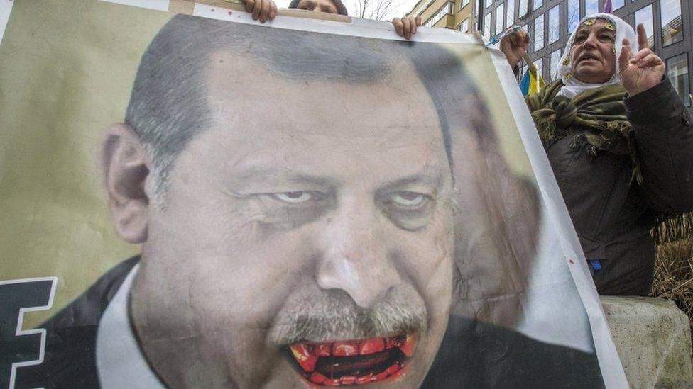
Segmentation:
{"type": "MultiPolygon", "coordinates": [[[[437,109],[449,158],[446,111],[471,109],[461,101],[469,94],[478,101],[459,59],[435,43],[376,40],[174,16],[141,59],[125,119],[148,150],[155,193],[168,187],[175,159],[187,143],[211,125],[204,77],[210,55],[220,50],[250,54],[271,71],[295,81],[369,83],[387,77],[392,64],[413,62],[437,109]],[[450,105],[452,102],[454,106],[450,105]]],[[[492,131],[481,133],[485,133],[484,137],[493,136],[492,131]]]]}

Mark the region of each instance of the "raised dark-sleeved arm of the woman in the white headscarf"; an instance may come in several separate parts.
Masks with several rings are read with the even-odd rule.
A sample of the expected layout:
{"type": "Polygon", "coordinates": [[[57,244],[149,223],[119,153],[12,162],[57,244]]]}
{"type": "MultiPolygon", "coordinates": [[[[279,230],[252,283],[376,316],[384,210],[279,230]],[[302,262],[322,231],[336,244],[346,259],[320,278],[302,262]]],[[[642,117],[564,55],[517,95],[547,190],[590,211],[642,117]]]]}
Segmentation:
{"type": "Polygon", "coordinates": [[[664,213],[693,209],[693,125],[684,103],[664,79],[626,98],[643,183],[651,208],[664,213]]]}

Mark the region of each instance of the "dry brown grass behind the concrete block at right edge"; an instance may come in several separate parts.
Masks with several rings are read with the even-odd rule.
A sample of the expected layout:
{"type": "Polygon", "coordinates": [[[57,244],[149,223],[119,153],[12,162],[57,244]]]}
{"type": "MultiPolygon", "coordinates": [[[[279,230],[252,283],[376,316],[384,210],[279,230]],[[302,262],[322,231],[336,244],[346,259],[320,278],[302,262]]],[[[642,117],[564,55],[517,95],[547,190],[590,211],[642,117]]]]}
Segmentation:
{"type": "Polygon", "coordinates": [[[674,301],[693,326],[693,237],[657,245],[650,294],[674,301]]]}

